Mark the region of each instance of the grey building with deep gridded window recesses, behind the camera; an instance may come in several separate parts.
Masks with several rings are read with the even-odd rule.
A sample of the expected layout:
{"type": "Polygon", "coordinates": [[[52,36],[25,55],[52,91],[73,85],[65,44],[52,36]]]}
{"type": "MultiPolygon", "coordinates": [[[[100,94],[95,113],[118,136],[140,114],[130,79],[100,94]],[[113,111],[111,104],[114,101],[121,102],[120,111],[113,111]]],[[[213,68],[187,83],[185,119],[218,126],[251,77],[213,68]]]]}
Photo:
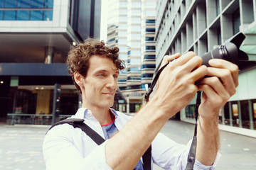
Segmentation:
{"type": "MultiPolygon", "coordinates": [[[[240,50],[256,59],[256,2],[253,0],[157,1],[156,67],[164,55],[194,51],[202,56],[241,31],[240,50]]],[[[237,93],[219,113],[220,129],[256,136],[256,69],[240,72],[237,93]]],[[[194,118],[193,100],[181,111],[181,120],[194,118]]]]}

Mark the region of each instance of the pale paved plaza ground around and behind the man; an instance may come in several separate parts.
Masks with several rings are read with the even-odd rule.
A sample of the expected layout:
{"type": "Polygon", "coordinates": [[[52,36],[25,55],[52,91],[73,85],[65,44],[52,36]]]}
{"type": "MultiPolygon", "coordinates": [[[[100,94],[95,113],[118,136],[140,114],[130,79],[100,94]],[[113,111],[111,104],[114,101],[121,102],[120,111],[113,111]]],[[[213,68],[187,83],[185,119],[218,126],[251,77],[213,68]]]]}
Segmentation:
{"type": "MultiPolygon", "coordinates": [[[[186,144],[193,136],[194,125],[169,120],[161,130],[176,142],[186,144]]],[[[48,127],[0,125],[0,169],[45,170],[42,143],[48,127]]],[[[222,157],[217,170],[256,169],[256,139],[220,132],[222,157]]],[[[154,165],[154,170],[160,168],[154,165]]]]}

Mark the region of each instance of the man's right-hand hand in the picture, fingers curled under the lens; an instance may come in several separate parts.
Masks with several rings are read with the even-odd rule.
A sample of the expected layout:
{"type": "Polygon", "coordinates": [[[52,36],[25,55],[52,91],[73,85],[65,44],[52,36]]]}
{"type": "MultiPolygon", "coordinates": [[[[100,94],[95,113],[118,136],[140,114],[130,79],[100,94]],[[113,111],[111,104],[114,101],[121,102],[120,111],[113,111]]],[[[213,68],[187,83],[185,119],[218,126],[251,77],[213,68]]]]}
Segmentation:
{"type": "Polygon", "coordinates": [[[213,59],[209,62],[207,76],[198,82],[203,91],[199,106],[201,118],[216,118],[220,108],[235,94],[238,86],[238,66],[226,60],[213,59]]]}

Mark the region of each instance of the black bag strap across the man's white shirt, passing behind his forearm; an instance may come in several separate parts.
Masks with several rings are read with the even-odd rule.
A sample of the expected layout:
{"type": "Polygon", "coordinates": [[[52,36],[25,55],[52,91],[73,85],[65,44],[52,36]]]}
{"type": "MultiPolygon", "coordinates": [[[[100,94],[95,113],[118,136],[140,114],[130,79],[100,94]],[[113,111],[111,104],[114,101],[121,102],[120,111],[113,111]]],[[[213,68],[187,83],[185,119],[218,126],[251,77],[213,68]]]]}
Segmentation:
{"type": "MultiPolygon", "coordinates": [[[[83,119],[68,118],[68,119],[65,119],[65,120],[61,120],[58,123],[55,123],[54,125],[52,125],[50,127],[50,129],[53,128],[56,125],[62,125],[62,124],[67,123],[68,125],[73,125],[74,128],[80,128],[95,143],[97,143],[97,145],[101,145],[103,142],[105,142],[105,139],[103,139],[99,134],[97,134],[97,132],[92,130],[92,128],[90,128],[88,125],[86,125],[83,122],[84,122],[83,119]]],[[[144,170],[151,170],[151,145],[150,145],[149,149],[147,149],[146,152],[143,154],[142,160],[143,160],[143,169],[144,170]]]]}

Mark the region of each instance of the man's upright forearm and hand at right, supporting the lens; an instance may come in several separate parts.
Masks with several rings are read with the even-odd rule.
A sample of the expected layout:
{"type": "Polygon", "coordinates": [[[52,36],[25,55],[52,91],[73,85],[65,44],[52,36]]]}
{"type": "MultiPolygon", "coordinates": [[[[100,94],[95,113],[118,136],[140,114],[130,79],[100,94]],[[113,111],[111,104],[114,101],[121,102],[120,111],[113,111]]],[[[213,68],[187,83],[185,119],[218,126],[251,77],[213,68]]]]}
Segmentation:
{"type": "Polygon", "coordinates": [[[211,165],[218,152],[220,141],[218,113],[238,86],[238,66],[225,60],[210,60],[206,77],[198,82],[203,91],[199,106],[198,145],[196,158],[202,164],[211,165]]]}

